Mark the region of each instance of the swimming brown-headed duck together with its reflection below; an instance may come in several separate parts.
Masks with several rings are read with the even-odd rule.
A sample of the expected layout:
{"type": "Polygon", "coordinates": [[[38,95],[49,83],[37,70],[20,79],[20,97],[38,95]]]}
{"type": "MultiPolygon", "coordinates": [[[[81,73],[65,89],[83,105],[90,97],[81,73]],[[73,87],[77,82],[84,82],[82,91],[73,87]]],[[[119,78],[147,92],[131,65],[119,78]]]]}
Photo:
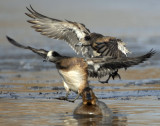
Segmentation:
{"type": "Polygon", "coordinates": [[[117,110],[112,112],[112,110],[104,102],[97,99],[93,90],[89,87],[84,89],[82,93],[82,102],[75,108],[73,114],[74,119],[77,120],[77,123],[80,126],[116,126],[121,122],[123,122],[123,125],[125,125],[127,121],[126,118],[119,118],[114,116],[121,114],[119,114],[117,110]],[[119,119],[122,119],[122,121],[119,119]]]}

